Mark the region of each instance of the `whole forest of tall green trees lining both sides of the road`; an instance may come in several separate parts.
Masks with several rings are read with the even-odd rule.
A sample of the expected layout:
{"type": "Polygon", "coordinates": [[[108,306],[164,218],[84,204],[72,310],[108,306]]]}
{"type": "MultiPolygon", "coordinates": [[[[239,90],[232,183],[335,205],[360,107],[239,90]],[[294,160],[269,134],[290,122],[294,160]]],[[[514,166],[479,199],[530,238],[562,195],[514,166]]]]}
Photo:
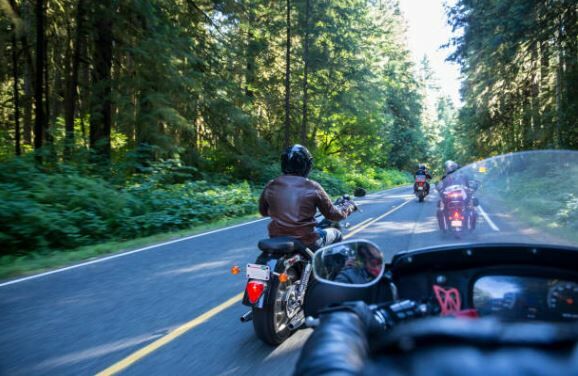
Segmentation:
{"type": "MultiPolygon", "coordinates": [[[[3,255],[250,215],[292,143],[333,195],[576,148],[571,0],[447,9],[462,104],[397,0],[0,0],[3,255]]],[[[1,255],[0,255],[1,256],[1,255]]]]}

